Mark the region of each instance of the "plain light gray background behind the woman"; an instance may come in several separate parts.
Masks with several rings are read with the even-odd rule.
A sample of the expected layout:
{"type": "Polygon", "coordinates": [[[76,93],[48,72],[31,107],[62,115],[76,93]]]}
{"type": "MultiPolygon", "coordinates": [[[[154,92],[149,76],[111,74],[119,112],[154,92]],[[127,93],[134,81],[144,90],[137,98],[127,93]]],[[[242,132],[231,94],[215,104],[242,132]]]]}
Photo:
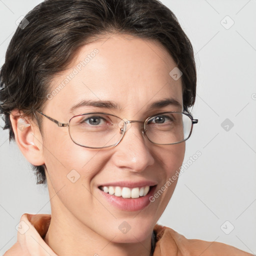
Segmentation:
{"type": "MultiPolygon", "coordinates": [[[[15,20],[39,2],[0,0],[0,65],[15,20]]],[[[197,150],[201,156],[180,175],[158,223],[187,238],[256,254],[256,0],[162,2],[194,48],[198,83],[192,113],[199,122],[186,142],[184,162],[197,150]],[[234,124],[228,131],[221,126],[226,118],[234,124]],[[220,228],[226,220],[223,230],[234,226],[229,234],[220,228]]],[[[0,129],[0,255],[16,241],[21,214],[50,213],[47,188],[35,183],[29,163],[0,129]]]]}

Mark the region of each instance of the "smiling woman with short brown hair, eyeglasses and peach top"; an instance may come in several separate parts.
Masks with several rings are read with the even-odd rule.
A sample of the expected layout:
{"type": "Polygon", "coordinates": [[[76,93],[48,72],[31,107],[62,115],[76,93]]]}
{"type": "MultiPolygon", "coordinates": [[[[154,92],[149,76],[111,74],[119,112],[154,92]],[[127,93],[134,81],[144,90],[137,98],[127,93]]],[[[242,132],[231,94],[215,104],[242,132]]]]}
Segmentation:
{"type": "Polygon", "coordinates": [[[193,119],[191,44],[157,0],[46,0],[0,72],[5,128],[47,183],[4,255],[249,255],[156,224],[193,119]]]}

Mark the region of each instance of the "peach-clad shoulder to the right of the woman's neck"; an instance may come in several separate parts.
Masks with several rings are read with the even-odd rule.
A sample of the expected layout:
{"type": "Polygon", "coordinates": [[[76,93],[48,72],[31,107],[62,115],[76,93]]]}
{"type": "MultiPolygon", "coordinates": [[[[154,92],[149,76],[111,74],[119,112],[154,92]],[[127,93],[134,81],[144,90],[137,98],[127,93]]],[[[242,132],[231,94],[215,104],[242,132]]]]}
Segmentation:
{"type": "Polygon", "coordinates": [[[233,246],[199,239],[187,239],[172,228],[158,225],[154,226],[156,243],[153,256],[173,255],[182,256],[251,256],[252,254],[233,246]]]}

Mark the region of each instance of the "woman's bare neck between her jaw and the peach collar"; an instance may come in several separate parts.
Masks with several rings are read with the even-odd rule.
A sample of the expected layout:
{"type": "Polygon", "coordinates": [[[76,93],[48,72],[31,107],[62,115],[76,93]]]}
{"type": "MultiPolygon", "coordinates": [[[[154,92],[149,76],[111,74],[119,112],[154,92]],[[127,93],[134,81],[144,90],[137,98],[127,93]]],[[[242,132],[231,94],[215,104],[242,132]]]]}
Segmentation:
{"type": "Polygon", "coordinates": [[[57,207],[57,209],[51,209],[51,221],[44,241],[58,256],[151,255],[152,233],[140,242],[113,242],[84,225],[66,208],[59,210],[57,207]]]}

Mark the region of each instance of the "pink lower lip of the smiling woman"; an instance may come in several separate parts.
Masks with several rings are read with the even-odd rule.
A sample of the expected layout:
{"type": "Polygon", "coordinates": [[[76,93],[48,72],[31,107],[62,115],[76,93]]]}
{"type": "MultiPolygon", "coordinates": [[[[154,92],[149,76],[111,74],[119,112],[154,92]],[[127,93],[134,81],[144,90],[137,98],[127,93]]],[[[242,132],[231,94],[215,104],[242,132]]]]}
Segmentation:
{"type": "Polygon", "coordinates": [[[150,203],[149,197],[154,193],[155,188],[156,185],[150,187],[149,192],[145,196],[141,196],[138,198],[122,198],[122,196],[115,196],[109,193],[105,193],[99,188],[98,190],[109,203],[119,208],[120,210],[136,211],[142,210],[150,203]]]}

